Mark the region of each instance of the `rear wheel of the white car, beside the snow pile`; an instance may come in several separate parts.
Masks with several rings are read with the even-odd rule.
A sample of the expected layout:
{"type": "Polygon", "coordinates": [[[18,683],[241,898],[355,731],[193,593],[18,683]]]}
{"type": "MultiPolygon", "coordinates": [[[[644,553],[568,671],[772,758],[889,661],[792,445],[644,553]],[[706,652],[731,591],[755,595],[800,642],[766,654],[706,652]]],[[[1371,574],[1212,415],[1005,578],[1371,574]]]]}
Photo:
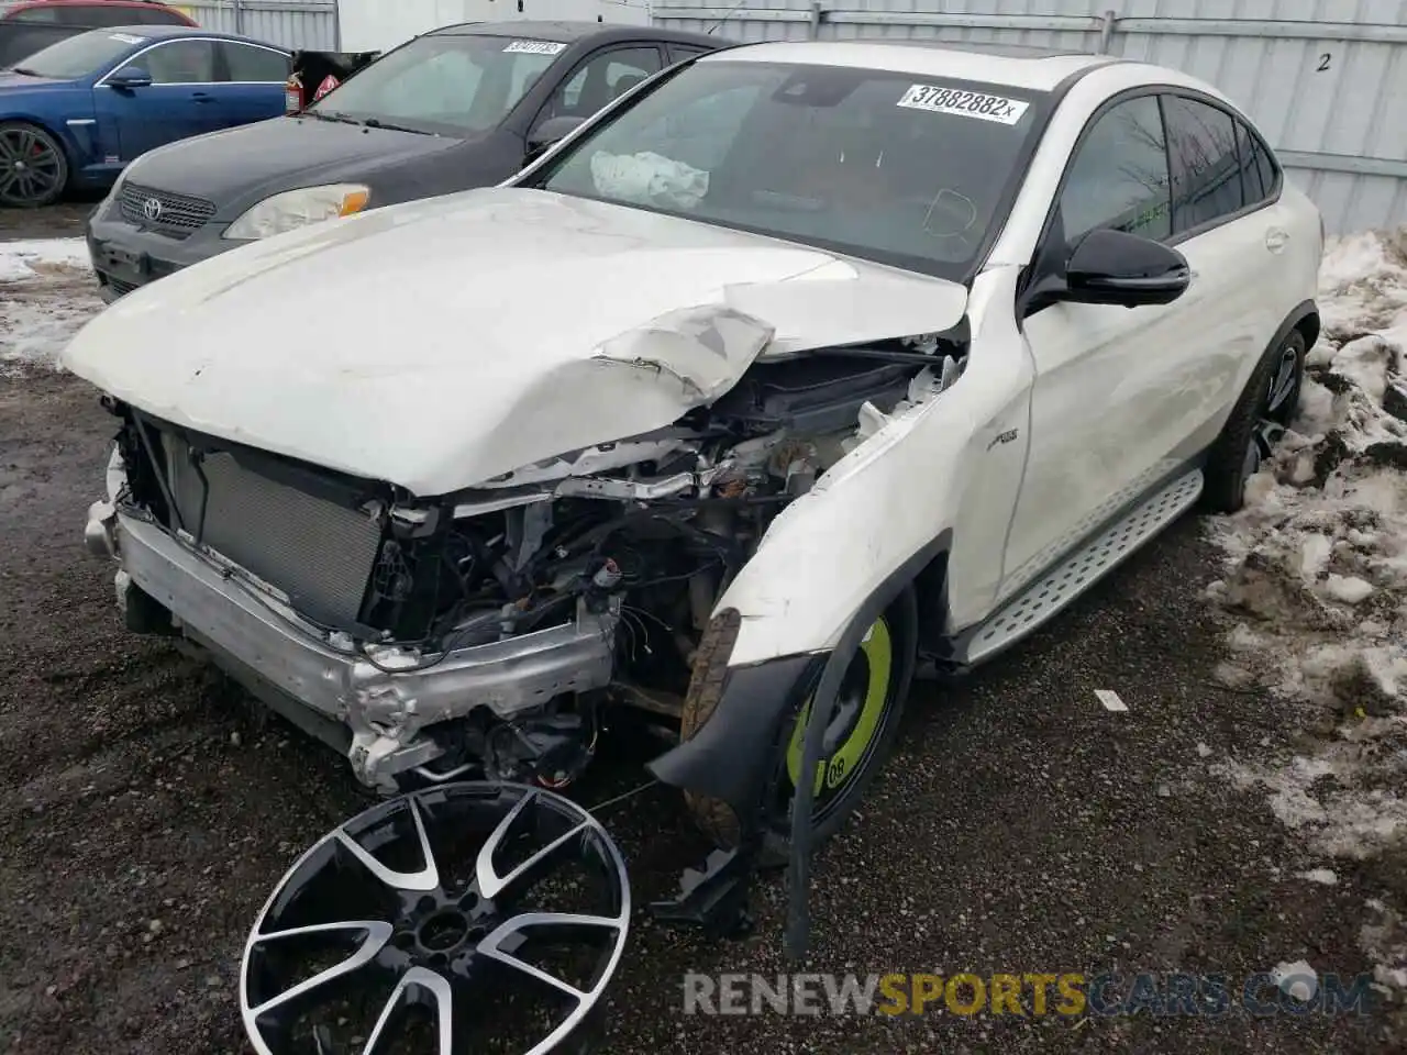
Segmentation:
{"type": "Polygon", "coordinates": [[[1202,505],[1207,512],[1234,513],[1245,505],[1245,482],[1269,454],[1300,405],[1304,384],[1304,333],[1292,329],[1265,356],[1231,408],[1225,428],[1207,453],[1202,505]]]}

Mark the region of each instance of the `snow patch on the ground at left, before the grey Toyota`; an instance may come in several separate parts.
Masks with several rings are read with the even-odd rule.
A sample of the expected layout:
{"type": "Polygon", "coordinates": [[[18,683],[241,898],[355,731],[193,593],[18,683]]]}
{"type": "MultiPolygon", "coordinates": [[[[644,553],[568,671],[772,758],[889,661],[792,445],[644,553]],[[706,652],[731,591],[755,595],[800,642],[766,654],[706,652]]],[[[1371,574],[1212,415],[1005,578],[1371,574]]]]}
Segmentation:
{"type": "Polygon", "coordinates": [[[101,309],[82,238],[0,242],[0,376],[56,369],[63,346],[101,309]]]}

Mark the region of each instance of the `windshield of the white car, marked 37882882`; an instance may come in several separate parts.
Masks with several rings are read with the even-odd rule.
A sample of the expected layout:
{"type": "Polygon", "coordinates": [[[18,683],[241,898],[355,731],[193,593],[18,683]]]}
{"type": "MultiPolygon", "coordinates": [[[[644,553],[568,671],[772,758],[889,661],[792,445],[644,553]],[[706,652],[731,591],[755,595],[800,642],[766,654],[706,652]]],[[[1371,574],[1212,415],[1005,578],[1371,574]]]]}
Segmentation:
{"type": "Polygon", "coordinates": [[[965,274],[1043,93],[702,60],[549,166],[546,190],[965,274]]]}

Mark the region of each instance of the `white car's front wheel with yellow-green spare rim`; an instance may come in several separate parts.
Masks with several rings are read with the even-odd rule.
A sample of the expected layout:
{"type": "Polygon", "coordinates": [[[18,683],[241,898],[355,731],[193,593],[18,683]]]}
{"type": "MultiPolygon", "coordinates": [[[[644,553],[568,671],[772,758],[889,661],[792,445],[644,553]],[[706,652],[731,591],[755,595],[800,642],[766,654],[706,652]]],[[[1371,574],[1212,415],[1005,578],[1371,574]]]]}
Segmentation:
{"type": "MultiPolygon", "coordinates": [[[[830,838],[858,805],[865,788],[882,768],[899,731],[899,717],[913,677],[915,636],[905,625],[902,606],[885,612],[865,633],[846,668],[836,708],[822,740],[820,762],[812,774],[813,843],[830,838]]],[[[699,650],[708,654],[706,644],[699,650]]],[[[704,660],[701,658],[701,663],[704,660]]],[[[692,688],[692,686],[691,686],[692,688]]],[[[719,695],[691,691],[684,705],[681,738],[692,738],[718,706],[719,695]]],[[[774,789],[764,806],[765,859],[785,861],[791,840],[791,806],[802,779],[805,719],[812,701],[788,716],[768,774],[774,789]]],[[[741,826],[733,809],[718,799],[685,793],[695,820],[709,838],[733,848],[741,826]]]]}

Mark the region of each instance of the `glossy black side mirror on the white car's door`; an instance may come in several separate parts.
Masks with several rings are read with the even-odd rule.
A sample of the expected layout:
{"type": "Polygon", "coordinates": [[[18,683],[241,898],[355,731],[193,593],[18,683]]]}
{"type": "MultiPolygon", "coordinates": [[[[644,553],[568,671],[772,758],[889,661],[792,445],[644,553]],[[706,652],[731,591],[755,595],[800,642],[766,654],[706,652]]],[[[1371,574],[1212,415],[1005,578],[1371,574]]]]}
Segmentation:
{"type": "Polygon", "coordinates": [[[1065,264],[1058,300],[1075,304],[1172,304],[1188,291],[1188,257],[1162,242],[1126,231],[1090,231],[1065,264]]]}

